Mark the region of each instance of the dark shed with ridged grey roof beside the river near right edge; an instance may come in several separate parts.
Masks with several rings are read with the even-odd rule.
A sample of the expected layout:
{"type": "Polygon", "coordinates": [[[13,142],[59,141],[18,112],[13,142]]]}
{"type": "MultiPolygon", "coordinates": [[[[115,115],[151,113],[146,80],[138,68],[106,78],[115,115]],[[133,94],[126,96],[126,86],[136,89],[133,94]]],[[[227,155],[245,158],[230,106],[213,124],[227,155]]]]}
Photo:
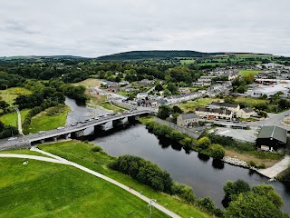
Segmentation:
{"type": "Polygon", "coordinates": [[[279,126],[264,126],[257,135],[256,147],[265,151],[277,150],[285,147],[287,143],[287,131],[279,126]]]}

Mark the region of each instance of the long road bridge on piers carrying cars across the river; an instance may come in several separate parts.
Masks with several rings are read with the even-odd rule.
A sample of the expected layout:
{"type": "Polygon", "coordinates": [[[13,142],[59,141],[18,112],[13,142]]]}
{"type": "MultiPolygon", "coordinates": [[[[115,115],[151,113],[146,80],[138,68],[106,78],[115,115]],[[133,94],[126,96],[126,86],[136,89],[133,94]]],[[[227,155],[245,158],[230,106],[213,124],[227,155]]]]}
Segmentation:
{"type": "Polygon", "coordinates": [[[122,114],[108,114],[102,117],[95,117],[86,121],[81,121],[76,124],[71,124],[65,127],[59,127],[50,131],[43,131],[38,134],[27,134],[14,138],[14,140],[0,142],[0,151],[9,149],[18,149],[30,147],[32,144],[44,143],[45,140],[53,140],[56,142],[59,138],[68,139],[70,137],[80,137],[83,131],[93,127],[94,132],[104,129],[104,125],[112,123],[113,125],[124,124],[126,121],[136,119],[140,115],[151,114],[150,110],[132,111],[122,114]]]}

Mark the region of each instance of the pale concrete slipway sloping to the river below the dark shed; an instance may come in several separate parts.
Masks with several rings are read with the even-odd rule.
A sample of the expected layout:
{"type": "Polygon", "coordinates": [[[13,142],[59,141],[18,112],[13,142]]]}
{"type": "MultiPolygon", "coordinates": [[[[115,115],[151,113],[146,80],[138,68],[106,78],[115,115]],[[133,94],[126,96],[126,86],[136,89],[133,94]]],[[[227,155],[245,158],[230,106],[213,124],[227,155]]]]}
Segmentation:
{"type": "Polygon", "coordinates": [[[290,156],[285,155],[285,158],[280,162],[275,163],[275,165],[269,168],[258,170],[257,172],[265,175],[268,178],[274,178],[277,174],[285,171],[285,169],[287,169],[289,166],[290,166],[290,156]]]}

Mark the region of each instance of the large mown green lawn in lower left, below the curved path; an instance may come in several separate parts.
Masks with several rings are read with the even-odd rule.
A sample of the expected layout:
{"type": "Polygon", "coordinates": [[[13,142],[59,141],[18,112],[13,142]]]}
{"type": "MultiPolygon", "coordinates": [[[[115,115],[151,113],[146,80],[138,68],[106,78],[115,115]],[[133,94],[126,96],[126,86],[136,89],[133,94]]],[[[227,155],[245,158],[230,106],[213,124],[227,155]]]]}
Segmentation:
{"type": "Polygon", "coordinates": [[[149,217],[148,203],[89,173],[24,161],[0,158],[0,217],[149,217]]]}

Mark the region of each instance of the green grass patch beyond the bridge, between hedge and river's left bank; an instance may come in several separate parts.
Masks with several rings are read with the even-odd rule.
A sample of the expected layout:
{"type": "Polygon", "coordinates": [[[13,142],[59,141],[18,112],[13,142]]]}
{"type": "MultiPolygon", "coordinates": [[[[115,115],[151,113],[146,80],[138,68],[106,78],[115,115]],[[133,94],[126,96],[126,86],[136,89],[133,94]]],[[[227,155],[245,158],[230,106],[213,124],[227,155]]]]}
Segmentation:
{"type": "Polygon", "coordinates": [[[59,104],[36,114],[31,121],[29,133],[56,129],[65,125],[67,114],[71,111],[67,105],[59,104]]]}

